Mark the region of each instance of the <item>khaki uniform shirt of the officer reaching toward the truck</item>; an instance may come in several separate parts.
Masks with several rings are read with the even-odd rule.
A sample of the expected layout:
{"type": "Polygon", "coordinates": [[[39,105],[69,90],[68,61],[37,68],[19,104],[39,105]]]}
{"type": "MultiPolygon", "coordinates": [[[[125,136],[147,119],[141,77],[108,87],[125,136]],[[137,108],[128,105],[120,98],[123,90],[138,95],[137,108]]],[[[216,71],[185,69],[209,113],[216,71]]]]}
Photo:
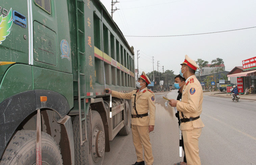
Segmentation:
{"type": "Polygon", "coordinates": [[[146,114],[149,112],[149,116],[145,116],[143,118],[132,118],[132,125],[139,125],[139,126],[148,126],[148,125],[155,125],[155,94],[145,88],[142,92],[138,90],[133,90],[129,93],[122,93],[117,91],[112,91],[113,97],[123,98],[123,99],[131,99],[131,106],[132,106],[132,113],[136,115],[134,109],[134,97],[136,94],[136,110],[138,114],[146,114]]]}

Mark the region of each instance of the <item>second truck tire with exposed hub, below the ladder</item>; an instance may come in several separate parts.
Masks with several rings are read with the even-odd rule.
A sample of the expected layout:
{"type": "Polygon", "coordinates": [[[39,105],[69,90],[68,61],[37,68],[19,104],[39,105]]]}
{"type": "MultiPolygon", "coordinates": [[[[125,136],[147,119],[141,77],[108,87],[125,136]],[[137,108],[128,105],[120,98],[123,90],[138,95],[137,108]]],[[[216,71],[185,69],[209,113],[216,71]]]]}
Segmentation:
{"type": "MultiPolygon", "coordinates": [[[[88,140],[80,145],[79,131],[79,116],[76,116],[73,121],[74,144],[75,144],[75,164],[76,165],[102,165],[105,155],[105,132],[100,114],[97,111],[92,111],[92,138],[90,137],[90,121],[87,122],[87,138],[88,140]],[[90,144],[91,152],[90,152],[90,144]]],[[[82,122],[84,130],[84,122],[82,122]]],[[[83,139],[85,132],[83,131],[83,139]]]]}

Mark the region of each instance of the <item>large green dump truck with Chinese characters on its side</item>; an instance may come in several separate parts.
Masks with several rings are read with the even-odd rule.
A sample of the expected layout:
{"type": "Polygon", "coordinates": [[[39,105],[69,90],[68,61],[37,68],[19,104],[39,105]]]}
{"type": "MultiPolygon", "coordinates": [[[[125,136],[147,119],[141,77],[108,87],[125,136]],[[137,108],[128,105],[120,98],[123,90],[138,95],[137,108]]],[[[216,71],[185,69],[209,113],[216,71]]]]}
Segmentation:
{"type": "Polygon", "coordinates": [[[0,1],[0,165],[103,163],[130,132],[134,50],[99,0],[0,1]]]}

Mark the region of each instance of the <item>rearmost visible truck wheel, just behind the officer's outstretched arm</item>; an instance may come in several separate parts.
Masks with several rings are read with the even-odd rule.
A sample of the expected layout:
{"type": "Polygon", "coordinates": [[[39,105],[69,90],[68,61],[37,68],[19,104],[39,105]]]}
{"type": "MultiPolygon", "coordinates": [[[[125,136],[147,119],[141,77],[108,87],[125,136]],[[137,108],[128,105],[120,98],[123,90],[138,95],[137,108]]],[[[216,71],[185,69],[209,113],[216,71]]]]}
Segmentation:
{"type": "Polygon", "coordinates": [[[128,135],[131,131],[131,112],[130,106],[127,100],[125,100],[125,119],[124,119],[124,127],[119,131],[120,135],[128,135]]]}

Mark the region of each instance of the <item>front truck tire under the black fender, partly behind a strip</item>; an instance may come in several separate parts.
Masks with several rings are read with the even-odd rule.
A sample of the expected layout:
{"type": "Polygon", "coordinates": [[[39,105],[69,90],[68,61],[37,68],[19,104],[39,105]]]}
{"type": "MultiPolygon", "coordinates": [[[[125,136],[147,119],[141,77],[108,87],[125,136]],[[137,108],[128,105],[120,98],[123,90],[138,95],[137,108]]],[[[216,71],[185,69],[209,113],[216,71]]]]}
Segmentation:
{"type": "MultiPolygon", "coordinates": [[[[36,164],[36,131],[17,131],[9,142],[0,165],[36,164]]],[[[42,164],[62,165],[59,147],[54,139],[42,132],[42,164]]]]}

